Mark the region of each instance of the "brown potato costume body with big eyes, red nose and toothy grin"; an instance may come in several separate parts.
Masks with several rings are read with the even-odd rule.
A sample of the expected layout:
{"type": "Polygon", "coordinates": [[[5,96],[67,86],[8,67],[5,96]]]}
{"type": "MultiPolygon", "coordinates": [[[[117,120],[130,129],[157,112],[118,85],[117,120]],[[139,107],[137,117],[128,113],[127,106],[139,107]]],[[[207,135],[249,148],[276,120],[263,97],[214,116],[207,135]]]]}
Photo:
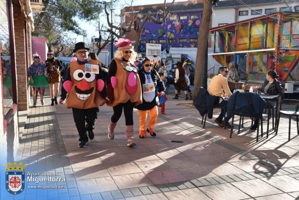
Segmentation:
{"type": "MultiPolygon", "coordinates": [[[[97,65],[97,62],[90,60],[87,64],[97,65]]],[[[67,91],[66,108],[90,109],[105,104],[106,100],[100,93],[103,88],[99,81],[102,79],[96,79],[97,74],[90,75],[89,72],[85,72],[85,65],[79,65],[77,62],[70,63],[69,74],[71,79],[63,83],[63,87],[67,91]]],[[[104,81],[102,82],[105,84],[104,81]]]]}

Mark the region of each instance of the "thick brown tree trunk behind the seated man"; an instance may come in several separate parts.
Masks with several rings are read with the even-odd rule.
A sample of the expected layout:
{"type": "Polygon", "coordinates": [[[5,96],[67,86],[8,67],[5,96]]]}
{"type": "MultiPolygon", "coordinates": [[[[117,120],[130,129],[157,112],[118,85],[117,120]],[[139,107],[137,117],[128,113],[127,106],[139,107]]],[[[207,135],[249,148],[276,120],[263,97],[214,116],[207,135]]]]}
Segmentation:
{"type": "Polygon", "coordinates": [[[198,41],[197,41],[193,105],[195,103],[198,88],[206,84],[204,82],[205,76],[207,76],[207,71],[205,70],[206,69],[205,66],[208,57],[206,55],[206,52],[207,52],[207,43],[208,43],[209,29],[211,23],[211,15],[212,15],[212,2],[213,0],[204,1],[203,18],[200,27],[200,34],[198,35],[198,41]]]}

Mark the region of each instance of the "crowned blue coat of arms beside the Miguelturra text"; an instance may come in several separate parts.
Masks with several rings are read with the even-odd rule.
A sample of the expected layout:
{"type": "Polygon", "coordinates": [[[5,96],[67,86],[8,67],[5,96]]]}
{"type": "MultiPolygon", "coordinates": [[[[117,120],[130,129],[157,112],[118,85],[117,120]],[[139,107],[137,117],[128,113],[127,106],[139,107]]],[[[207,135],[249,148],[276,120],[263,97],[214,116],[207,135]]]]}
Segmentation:
{"type": "Polygon", "coordinates": [[[26,163],[9,162],[4,164],[6,167],[5,179],[6,190],[11,194],[19,194],[25,188],[25,167],[26,163]]]}

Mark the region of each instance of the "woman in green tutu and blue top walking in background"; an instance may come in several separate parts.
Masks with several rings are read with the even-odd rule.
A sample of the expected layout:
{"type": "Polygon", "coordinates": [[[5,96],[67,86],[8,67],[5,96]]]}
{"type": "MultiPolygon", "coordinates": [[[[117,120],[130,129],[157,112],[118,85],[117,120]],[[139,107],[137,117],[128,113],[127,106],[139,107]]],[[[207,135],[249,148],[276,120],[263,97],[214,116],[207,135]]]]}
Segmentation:
{"type": "Polygon", "coordinates": [[[28,68],[28,76],[30,80],[28,85],[33,87],[33,107],[36,107],[37,94],[40,94],[41,105],[44,105],[45,88],[49,86],[49,82],[45,74],[47,74],[46,65],[40,62],[40,56],[34,56],[34,63],[28,68]]]}

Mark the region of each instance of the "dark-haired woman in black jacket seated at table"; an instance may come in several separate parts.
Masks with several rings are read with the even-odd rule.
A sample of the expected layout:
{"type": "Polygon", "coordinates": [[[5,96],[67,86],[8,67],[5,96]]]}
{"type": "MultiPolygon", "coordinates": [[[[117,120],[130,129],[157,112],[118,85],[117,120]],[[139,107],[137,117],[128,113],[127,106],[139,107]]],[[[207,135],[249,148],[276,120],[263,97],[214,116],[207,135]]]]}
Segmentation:
{"type": "MultiPolygon", "coordinates": [[[[278,75],[276,71],[269,70],[266,74],[266,80],[262,85],[262,88],[259,90],[260,94],[269,94],[269,95],[283,95],[283,89],[281,87],[281,83],[276,79],[278,78],[278,75]]],[[[273,107],[276,104],[274,101],[267,101],[266,106],[273,107]]],[[[271,110],[270,110],[271,111],[271,110]]],[[[271,116],[271,113],[269,114],[271,116]]],[[[250,128],[251,130],[257,129],[257,119],[254,121],[254,125],[250,128]]]]}

